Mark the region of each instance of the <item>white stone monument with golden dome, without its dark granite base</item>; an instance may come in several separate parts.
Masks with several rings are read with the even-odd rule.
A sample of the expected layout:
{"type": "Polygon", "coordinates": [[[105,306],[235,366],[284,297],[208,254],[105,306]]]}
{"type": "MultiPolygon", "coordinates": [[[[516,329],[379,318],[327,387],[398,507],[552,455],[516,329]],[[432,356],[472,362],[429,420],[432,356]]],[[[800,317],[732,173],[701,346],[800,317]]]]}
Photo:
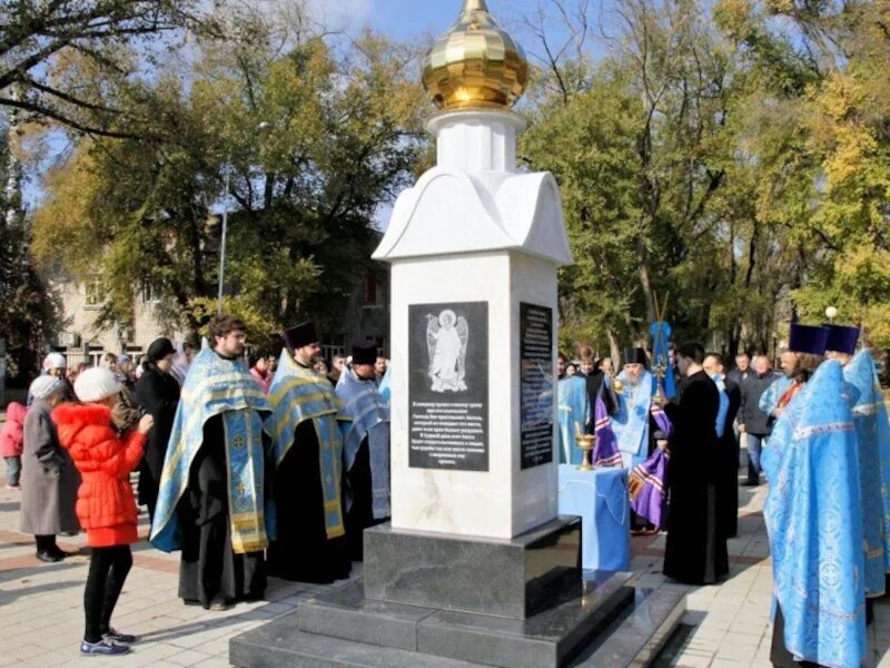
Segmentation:
{"type": "MultiPolygon", "coordinates": [[[[555,179],[516,168],[516,137],[526,122],[510,109],[526,71],[522,50],[493,23],[482,0],[464,3],[455,27],[426,58],[424,82],[442,108],[427,126],[436,136],[437,164],[398,197],[374,254],[392,264],[394,530],[510,539],[556,517],[555,431],[550,458],[542,456],[537,439],[532,460],[522,433],[521,304],[550,310],[550,362],[534,364],[536,377],[555,391],[556,269],[572,264],[572,255],[555,179]],[[485,401],[474,401],[479,394],[472,386],[446,389],[442,401],[417,396],[433,361],[429,352],[413,354],[412,337],[424,321],[412,322],[412,315],[438,316],[448,308],[435,306],[463,303],[487,305],[486,332],[465,318],[467,338],[482,334],[485,346],[467,345],[464,360],[467,374],[487,363],[487,374],[478,374],[487,375],[485,401]],[[434,307],[412,308],[423,305],[434,307]],[[484,405],[476,415],[448,410],[465,403],[484,405]],[[487,429],[473,443],[461,428],[486,416],[487,429]],[[485,464],[472,461],[473,448],[461,452],[467,441],[476,455],[485,449],[487,456],[477,458],[485,464]]],[[[553,430],[555,392],[551,396],[538,403],[551,411],[553,430]]]]}

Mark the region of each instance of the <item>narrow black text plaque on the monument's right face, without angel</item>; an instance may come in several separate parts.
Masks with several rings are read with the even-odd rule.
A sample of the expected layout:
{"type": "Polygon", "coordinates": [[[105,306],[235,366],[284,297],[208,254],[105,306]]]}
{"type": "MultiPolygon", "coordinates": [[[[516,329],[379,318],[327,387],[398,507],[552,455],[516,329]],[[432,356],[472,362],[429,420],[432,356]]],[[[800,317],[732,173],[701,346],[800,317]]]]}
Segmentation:
{"type": "Polygon", "coordinates": [[[520,465],[553,461],[553,310],[520,303],[520,465]]]}

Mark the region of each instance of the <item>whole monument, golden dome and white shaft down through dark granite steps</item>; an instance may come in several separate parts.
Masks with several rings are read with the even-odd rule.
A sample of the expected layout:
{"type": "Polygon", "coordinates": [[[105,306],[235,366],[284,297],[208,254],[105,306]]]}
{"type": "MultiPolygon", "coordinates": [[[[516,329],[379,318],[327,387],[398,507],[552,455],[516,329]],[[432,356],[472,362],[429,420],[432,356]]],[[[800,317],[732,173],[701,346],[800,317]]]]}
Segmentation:
{"type": "Polygon", "coordinates": [[[578,518],[556,513],[572,256],[553,177],[516,169],[526,76],[484,0],[426,58],[438,161],[374,255],[392,264],[392,523],[365,530],[359,581],[233,639],[235,666],[645,666],[682,618],[682,592],[637,610],[631,573],[583,577],[578,518]]]}

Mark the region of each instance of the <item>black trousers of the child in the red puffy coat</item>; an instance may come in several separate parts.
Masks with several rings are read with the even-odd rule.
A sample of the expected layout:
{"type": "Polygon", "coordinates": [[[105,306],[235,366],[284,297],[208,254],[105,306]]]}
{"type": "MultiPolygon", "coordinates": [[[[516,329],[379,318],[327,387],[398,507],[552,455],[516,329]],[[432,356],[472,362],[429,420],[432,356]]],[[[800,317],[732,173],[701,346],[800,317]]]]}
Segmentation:
{"type": "Polygon", "coordinates": [[[83,610],[87,616],[83,639],[87,642],[98,642],[108,632],[111,613],[131,566],[130,546],[92,548],[87,588],[83,590],[83,610]]]}

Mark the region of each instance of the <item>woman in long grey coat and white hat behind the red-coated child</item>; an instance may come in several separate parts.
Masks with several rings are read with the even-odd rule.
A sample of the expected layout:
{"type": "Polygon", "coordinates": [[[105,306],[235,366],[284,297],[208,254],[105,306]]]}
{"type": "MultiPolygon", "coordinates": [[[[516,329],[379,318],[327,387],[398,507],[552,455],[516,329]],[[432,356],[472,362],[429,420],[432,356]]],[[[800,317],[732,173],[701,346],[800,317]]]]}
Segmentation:
{"type": "Polygon", "coordinates": [[[24,450],[21,455],[21,531],[37,542],[37,558],[53,562],[68,553],[56,544],[57,533],[77,533],[75,514],[78,473],[68,452],[59,444],[50,412],[63,399],[66,383],[43,375],[31,383],[34,397],[24,419],[24,450]]]}

